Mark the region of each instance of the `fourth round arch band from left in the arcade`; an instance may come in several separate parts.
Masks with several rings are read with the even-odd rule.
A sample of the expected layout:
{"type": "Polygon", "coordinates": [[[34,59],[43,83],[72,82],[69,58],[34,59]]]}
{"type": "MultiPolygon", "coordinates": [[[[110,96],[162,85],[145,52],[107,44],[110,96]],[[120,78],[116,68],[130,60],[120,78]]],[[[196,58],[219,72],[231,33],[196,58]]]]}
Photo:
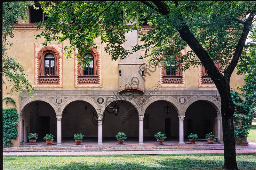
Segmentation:
{"type": "Polygon", "coordinates": [[[155,101],[159,101],[159,100],[163,100],[163,101],[167,101],[170,104],[172,104],[172,106],[176,109],[178,116],[180,115],[180,105],[178,104],[178,102],[176,101],[176,99],[172,98],[172,97],[167,97],[167,96],[159,96],[159,97],[153,97],[152,99],[146,101],[146,103],[143,106],[143,110],[142,110],[142,115],[145,114],[145,111],[147,109],[147,107],[152,104],[155,101]]]}

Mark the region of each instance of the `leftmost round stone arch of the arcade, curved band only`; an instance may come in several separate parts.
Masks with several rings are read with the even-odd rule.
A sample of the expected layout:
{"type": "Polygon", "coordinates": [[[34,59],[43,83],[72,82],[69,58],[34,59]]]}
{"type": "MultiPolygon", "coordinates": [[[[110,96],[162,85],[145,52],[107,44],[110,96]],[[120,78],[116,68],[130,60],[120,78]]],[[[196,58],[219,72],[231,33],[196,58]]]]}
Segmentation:
{"type": "Polygon", "coordinates": [[[54,102],[52,100],[50,100],[49,98],[46,98],[46,97],[36,97],[35,98],[36,100],[31,100],[30,98],[26,99],[26,100],[22,100],[22,102],[20,103],[20,116],[22,116],[22,113],[24,111],[24,109],[32,102],[35,102],[35,101],[44,101],[46,103],[48,103],[49,105],[52,106],[52,108],[54,109],[55,111],[55,114],[57,115],[58,114],[58,108],[57,106],[54,104],[54,102]]]}

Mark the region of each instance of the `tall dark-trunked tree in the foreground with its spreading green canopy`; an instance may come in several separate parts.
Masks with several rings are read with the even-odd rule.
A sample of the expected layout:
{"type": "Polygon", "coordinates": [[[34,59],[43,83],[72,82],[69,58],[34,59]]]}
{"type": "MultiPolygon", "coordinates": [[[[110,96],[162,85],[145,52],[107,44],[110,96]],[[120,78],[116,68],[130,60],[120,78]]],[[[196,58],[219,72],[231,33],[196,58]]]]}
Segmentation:
{"type": "MultiPolygon", "coordinates": [[[[89,47],[95,47],[95,38],[106,43],[105,51],[112,59],[123,59],[132,52],[145,50],[150,62],[158,64],[173,58],[173,63],[183,64],[183,69],[203,64],[215,83],[221,98],[224,157],[222,168],[237,169],[233,128],[234,104],[230,94],[230,77],[254,22],[254,1],[85,1],[44,2],[48,15],[43,36],[45,44],[51,41],[69,41],[64,47],[67,57],[77,48],[77,58],[83,58],[89,47]],[[138,22],[134,22],[138,19],[138,22]],[[141,30],[147,21],[152,25],[148,33],[140,33],[143,45],[133,51],[122,44],[125,33],[141,30]],[[128,23],[133,23],[127,26],[128,23]],[[192,51],[179,58],[180,50],[189,46],[192,51]],[[160,56],[160,57],[159,57],[160,56]],[[220,67],[216,67],[218,63],[220,67]]],[[[41,28],[43,23],[38,25],[41,28]]]]}

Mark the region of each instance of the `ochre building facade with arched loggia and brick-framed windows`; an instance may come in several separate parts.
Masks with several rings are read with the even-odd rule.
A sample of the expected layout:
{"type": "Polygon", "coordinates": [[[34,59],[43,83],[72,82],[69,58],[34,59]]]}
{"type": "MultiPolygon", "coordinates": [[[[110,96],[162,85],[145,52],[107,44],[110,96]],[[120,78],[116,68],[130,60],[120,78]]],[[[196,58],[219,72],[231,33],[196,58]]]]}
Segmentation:
{"type": "MultiPolygon", "coordinates": [[[[37,133],[41,140],[45,134],[53,134],[57,145],[76,133],[94,137],[101,145],[105,137],[114,138],[118,132],[143,144],[158,131],[179,144],[190,133],[204,138],[210,132],[218,143],[223,142],[220,96],[203,66],[179,71],[169,65],[170,70],[165,70],[148,63],[147,58],[139,59],[144,51],[112,61],[104,51],[106,44],[97,38],[98,47],[85,54],[92,62],[82,69],[75,58],[77,51],[73,58],[62,54],[60,48],[68,42],[44,47],[44,39],[35,39],[41,30],[36,29],[32,12],[28,9],[28,21],[20,20],[14,38],[8,40],[13,43],[8,54],[18,58],[25,70],[31,69],[28,79],[37,92],[32,100],[24,95],[17,104],[19,137],[12,141],[13,146],[26,142],[29,133],[37,133]]],[[[142,32],[150,27],[142,26],[142,32]]],[[[125,37],[125,49],[143,43],[136,30],[125,37]]],[[[189,50],[186,47],[180,54],[189,50]]],[[[233,89],[244,84],[235,72],[230,81],[233,89]]]]}

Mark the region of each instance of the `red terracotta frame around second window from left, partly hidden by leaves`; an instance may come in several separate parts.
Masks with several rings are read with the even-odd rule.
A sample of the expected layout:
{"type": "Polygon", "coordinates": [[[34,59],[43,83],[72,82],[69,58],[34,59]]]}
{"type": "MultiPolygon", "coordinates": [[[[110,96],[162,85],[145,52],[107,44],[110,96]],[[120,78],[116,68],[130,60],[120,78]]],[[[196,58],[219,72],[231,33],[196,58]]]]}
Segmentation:
{"type": "MultiPolygon", "coordinates": [[[[86,54],[92,54],[93,56],[93,75],[84,75],[84,69],[80,64],[77,64],[77,84],[100,84],[99,83],[99,53],[96,49],[90,48],[91,51],[86,54]]],[[[86,55],[85,54],[85,55],[86,55]]]]}

